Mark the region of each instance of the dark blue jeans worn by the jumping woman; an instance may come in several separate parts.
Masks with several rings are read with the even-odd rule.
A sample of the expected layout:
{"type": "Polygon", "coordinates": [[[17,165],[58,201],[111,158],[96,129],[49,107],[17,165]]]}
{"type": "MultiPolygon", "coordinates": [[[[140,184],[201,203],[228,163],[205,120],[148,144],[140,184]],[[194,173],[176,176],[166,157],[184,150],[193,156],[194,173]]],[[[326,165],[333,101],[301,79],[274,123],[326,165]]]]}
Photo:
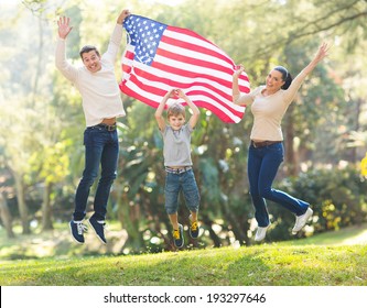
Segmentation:
{"type": "Polygon", "coordinates": [[[266,199],[277,202],[296,216],[305,213],[310,206],[305,201],[271,188],[283,158],[284,148],[281,142],[263,147],[249,146],[247,172],[255,218],[259,227],[267,227],[270,223],[266,199]]]}

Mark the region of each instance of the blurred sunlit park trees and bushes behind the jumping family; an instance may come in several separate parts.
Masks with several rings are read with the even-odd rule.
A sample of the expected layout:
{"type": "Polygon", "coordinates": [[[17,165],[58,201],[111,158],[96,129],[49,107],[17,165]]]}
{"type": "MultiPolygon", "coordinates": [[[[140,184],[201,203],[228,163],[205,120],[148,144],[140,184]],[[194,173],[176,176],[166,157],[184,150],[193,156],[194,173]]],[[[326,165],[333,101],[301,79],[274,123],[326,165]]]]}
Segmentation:
{"type": "MultiPolygon", "coordinates": [[[[306,243],[301,241],[317,234],[366,229],[367,183],[360,175],[367,150],[366,0],[4,0],[0,7],[2,260],[175,251],[164,211],[162,139],[154,109],[126,96],[127,117],[118,124],[118,178],[108,205],[109,242],[100,245],[89,232],[80,246],[68,233],[84,167],[85,121],[78,91],[54,65],[56,21],[71,16],[67,57],[80,64],[80,46],[106,50],[125,8],[214,42],[244,64],[251,88],[265,84],[274,65],[295,76],[322,42],[331,43],[330,56],[306,79],[284,117],[285,161],[274,182],[276,188],[311,202],[312,222],[291,235],[294,217],[269,202],[272,227],[265,242],[306,243]]],[[[122,41],[118,81],[126,34],[122,41]]],[[[184,249],[250,249],[256,230],[246,167],[250,110],[237,124],[201,111],[192,157],[203,234],[192,241],[186,232],[184,249]]],[[[88,210],[93,197],[94,189],[88,210]]],[[[187,226],[183,201],[180,217],[187,226]]]]}

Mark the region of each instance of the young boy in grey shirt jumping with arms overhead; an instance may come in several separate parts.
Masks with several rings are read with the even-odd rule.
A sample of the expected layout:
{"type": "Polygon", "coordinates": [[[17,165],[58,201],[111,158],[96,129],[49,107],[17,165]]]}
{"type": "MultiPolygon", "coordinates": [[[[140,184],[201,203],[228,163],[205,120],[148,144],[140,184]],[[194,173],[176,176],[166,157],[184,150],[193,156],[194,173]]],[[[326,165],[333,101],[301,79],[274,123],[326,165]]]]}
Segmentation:
{"type": "Polygon", "coordinates": [[[190,235],[198,237],[197,211],[199,206],[199,194],[191,160],[191,134],[198,121],[199,111],[197,107],[181,89],[171,89],[163,97],[155,111],[155,119],[163,136],[163,156],[166,170],[165,177],[165,210],[173,227],[173,240],[176,248],[184,245],[183,227],[179,223],[179,194],[182,190],[191,215],[190,235]],[[181,103],[173,103],[168,109],[166,125],[162,117],[169,98],[182,98],[192,109],[193,114],[185,123],[185,108],[181,103]]]}

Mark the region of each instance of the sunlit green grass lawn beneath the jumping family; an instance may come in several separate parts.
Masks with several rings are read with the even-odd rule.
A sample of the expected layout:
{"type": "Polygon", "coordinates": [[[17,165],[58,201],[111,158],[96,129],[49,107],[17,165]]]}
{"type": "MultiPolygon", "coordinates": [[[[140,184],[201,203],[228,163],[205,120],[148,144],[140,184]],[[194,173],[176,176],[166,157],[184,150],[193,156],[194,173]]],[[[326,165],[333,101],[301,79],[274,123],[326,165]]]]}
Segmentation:
{"type": "Polygon", "coordinates": [[[0,285],[367,286],[366,238],[363,226],[250,248],[0,261],[0,285]]]}

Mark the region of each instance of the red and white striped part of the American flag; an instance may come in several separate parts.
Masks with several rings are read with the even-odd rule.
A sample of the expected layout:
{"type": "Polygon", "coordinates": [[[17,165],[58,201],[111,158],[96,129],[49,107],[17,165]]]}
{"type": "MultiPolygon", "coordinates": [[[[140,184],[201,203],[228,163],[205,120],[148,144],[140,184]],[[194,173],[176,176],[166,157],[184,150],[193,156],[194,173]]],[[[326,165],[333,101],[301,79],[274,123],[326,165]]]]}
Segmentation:
{"type": "MultiPolygon", "coordinates": [[[[120,82],[121,91],[153,108],[158,108],[160,98],[164,97],[168,87],[181,88],[185,90],[187,96],[192,97],[196,106],[211,110],[222,121],[238,122],[244,117],[242,110],[245,109],[237,110],[236,106],[231,103],[231,84],[235,72],[234,61],[219,47],[191,30],[168,26],[166,31],[171,31],[172,33],[166,33],[166,35],[172,35],[170,37],[163,33],[161,42],[166,45],[158,48],[156,55],[160,56],[160,59],[153,59],[151,64],[152,69],[138,61],[136,63],[134,47],[129,46],[132,47],[132,51],[127,51],[123,54],[121,65],[123,78],[129,79],[129,81],[122,80],[120,82]],[[179,38],[179,35],[176,35],[177,37],[175,36],[179,33],[187,37],[179,38]],[[194,42],[196,40],[198,41],[194,42]],[[183,48],[183,52],[177,54],[172,46],[183,48]],[[198,55],[198,58],[187,56],[184,50],[193,51],[201,55],[198,55]],[[166,64],[165,59],[170,59],[170,62],[174,61],[179,64],[179,67],[166,64]],[[195,66],[193,69],[197,72],[190,70],[187,66],[192,65],[195,66]],[[160,70],[163,77],[153,74],[153,69],[160,70]],[[170,75],[165,77],[165,73],[170,75]],[[141,80],[142,78],[144,80],[141,80]],[[155,82],[161,85],[158,87],[155,82]],[[128,88],[127,85],[131,85],[132,88],[128,88]],[[136,91],[133,89],[139,90],[136,91]],[[204,99],[196,99],[198,96],[204,99]]],[[[248,77],[245,73],[239,78],[241,81],[248,82],[248,77]]],[[[250,90],[244,82],[240,84],[239,88],[241,92],[249,92],[250,90]]]]}

